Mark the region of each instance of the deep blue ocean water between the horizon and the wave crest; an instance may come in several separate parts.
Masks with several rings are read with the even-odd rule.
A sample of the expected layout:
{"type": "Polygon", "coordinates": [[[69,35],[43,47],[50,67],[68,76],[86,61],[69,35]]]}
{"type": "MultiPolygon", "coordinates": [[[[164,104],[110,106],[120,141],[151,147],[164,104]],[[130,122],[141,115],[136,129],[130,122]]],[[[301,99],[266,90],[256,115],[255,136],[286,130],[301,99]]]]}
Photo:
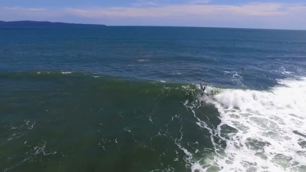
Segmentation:
{"type": "Polygon", "coordinates": [[[284,71],[302,75],[306,65],[305,31],[92,27],[13,28],[0,34],[0,67],[9,72],[92,72],[182,83],[202,79],[221,87],[261,89],[288,77],[284,71]]]}

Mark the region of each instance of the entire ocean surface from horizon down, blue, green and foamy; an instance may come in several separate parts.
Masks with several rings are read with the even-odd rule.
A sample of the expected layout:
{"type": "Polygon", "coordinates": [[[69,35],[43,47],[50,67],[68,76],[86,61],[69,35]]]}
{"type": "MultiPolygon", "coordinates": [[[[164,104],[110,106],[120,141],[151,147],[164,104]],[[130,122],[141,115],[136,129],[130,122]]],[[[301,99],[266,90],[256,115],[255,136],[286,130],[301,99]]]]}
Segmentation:
{"type": "Polygon", "coordinates": [[[0,28],[1,171],[306,171],[305,105],[306,31],[0,28]]]}

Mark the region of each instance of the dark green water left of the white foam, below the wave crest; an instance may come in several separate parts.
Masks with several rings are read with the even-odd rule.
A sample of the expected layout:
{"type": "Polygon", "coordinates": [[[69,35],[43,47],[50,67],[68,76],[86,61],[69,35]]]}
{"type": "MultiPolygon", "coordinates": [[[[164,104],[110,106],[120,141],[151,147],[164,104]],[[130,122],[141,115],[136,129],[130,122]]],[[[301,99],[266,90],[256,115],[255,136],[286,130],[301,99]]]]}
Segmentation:
{"type": "MultiPolygon", "coordinates": [[[[209,131],[184,105],[199,104],[194,85],[62,73],[0,79],[2,170],[186,171],[192,159],[180,146],[201,150],[194,158],[214,152],[209,131]]],[[[219,124],[212,105],[197,111],[210,127],[219,124]]]]}

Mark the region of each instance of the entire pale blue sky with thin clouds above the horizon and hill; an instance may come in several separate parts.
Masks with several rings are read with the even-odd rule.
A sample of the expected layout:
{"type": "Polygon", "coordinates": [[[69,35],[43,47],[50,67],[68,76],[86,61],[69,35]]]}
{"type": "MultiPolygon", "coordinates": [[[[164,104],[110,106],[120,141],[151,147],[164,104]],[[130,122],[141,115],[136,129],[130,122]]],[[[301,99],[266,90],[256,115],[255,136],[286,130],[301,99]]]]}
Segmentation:
{"type": "Polygon", "coordinates": [[[306,30],[306,0],[0,0],[0,20],[306,30]]]}

